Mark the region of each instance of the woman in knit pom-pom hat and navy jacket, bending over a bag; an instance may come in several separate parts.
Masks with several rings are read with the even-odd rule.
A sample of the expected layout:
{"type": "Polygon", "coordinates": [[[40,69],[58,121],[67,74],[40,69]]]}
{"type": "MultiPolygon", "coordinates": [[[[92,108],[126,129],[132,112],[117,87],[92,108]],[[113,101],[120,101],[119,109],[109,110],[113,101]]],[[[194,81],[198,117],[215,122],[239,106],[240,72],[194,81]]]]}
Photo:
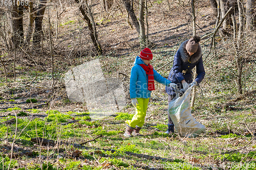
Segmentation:
{"type": "MultiPolygon", "coordinates": [[[[195,35],[193,38],[181,43],[179,50],[174,56],[173,68],[170,70],[168,80],[176,83],[179,89],[186,91],[189,87],[188,83],[195,85],[201,83],[204,78],[205,71],[202,58],[202,48],[199,44],[201,38],[195,35]],[[192,69],[197,66],[197,78],[193,81],[192,69]]],[[[172,101],[176,93],[174,88],[165,87],[168,93],[168,103],[172,101]]],[[[168,130],[165,133],[174,132],[174,124],[168,113],[168,130]]]]}

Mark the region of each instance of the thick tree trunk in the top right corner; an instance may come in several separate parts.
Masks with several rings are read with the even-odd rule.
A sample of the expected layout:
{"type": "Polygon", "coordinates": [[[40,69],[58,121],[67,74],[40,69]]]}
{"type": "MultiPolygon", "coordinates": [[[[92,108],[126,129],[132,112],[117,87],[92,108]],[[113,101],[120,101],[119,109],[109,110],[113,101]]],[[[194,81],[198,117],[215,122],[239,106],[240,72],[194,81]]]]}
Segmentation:
{"type": "Polygon", "coordinates": [[[254,25],[253,10],[255,7],[255,0],[247,0],[246,3],[246,29],[251,30],[254,25]]]}

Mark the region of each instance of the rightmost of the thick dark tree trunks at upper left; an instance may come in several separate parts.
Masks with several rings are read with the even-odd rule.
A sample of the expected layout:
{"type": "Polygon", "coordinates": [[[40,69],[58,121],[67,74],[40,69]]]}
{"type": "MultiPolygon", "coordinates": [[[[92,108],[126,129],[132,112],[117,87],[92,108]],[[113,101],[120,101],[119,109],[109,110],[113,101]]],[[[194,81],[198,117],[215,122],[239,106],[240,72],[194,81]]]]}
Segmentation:
{"type": "Polygon", "coordinates": [[[33,36],[33,44],[37,45],[42,40],[42,19],[44,18],[45,10],[46,10],[46,3],[45,0],[40,0],[40,5],[38,7],[36,17],[35,17],[35,31],[33,36]]]}

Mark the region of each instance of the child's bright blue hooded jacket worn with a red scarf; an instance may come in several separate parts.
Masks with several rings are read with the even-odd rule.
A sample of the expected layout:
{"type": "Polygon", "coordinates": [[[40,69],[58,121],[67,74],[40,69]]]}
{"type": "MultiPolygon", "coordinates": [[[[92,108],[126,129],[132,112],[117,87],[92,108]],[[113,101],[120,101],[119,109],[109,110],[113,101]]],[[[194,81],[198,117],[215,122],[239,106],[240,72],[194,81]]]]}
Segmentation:
{"type": "MultiPolygon", "coordinates": [[[[130,97],[132,98],[150,98],[151,91],[147,89],[147,79],[146,71],[139,65],[145,64],[140,57],[136,57],[134,61],[134,66],[131,70],[130,78],[130,97]]],[[[169,86],[171,83],[169,80],[163,78],[154,68],[154,79],[155,81],[169,86]]]]}

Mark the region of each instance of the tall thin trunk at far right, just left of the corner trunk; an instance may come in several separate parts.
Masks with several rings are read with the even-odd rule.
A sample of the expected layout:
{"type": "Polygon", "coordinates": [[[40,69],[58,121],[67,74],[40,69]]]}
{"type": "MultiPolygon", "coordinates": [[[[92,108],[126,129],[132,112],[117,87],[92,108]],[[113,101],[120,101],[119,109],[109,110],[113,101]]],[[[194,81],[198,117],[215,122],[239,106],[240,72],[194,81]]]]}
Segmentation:
{"type": "MultiPolygon", "coordinates": [[[[238,52],[241,51],[241,46],[243,44],[242,39],[243,39],[243,32],[244,32],[244,14],[243,14],[243,4],[241,3],[240,0],[238,1],[238,10],[239,10],[239,32],[238,32],[238,38],[237,38],[237,45],[238,45],[238,52]]],[[[237,57],[237,70],[238,70],[238,79],[237,79],[237,84],[238,84],[238,92],[242,94],[242,70],[243,70],[243,65],[242,65],[242,60],[243,56],[241,53],[241,56],[237,57]]]]}

